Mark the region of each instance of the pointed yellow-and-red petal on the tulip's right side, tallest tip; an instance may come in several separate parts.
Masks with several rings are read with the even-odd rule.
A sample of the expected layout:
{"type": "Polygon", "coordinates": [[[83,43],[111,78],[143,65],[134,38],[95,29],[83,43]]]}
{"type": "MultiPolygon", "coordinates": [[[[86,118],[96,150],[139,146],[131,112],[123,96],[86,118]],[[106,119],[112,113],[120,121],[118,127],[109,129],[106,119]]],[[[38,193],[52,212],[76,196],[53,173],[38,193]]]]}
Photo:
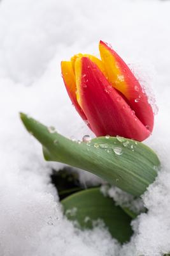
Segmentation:
{"type": "Polygon", "coordinates": [[[100,41],[99,51],[108,81],[125,96],[129,106],[135,111],[136,116],[152,132],[153,110],[148,103],[148,97],[143,92],[138,79],[136,79],[130,68],[108,44],[100,41]]]}

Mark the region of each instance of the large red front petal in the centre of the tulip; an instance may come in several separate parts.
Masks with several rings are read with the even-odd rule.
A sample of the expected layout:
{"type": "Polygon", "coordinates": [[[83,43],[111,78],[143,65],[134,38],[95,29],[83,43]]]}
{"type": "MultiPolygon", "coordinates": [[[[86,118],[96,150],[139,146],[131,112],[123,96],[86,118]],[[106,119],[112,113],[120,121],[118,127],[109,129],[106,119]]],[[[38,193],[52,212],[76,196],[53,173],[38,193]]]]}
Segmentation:
{"type": "Polygon", "coordinates": [[[79,60],[78,93],[81,108],[96,136],[124,136],[143,141],[150,131],[141,123],[120,93],[89,58],[79,60]],[[86,75],[86,76],[84,76],[86,75]]]}

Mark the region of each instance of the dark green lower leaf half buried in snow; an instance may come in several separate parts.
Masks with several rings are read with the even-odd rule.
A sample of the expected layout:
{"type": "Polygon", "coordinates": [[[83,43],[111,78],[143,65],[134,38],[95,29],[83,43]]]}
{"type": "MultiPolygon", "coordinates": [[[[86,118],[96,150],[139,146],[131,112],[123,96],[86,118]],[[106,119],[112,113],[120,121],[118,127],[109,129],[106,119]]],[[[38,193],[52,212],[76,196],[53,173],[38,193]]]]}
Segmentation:
{"type": "Polygon", "coordinates": [[[93,221],[103,220],[120,243],[129,241],[132,235],[131,217],[116,206],[113,199],[103,196],[99,188],[74,193],[61,201],[69,220],[76,220],[81,228],[92,228],[93,221]]]}

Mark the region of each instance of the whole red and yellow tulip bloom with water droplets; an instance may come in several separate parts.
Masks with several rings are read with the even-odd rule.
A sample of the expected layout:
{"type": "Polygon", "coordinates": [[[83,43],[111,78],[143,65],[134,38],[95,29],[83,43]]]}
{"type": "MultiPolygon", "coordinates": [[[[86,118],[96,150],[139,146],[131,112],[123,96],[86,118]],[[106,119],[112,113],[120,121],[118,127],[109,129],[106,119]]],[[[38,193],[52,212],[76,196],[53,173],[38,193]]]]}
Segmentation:
{"type": "Polygon", "coordinates": [[[62,61],[67,93],[96,136],[123,136],[143,141],[153,129],[153,110],[130,68],[100,41],[101,60],[76,54],[62,61]]]}

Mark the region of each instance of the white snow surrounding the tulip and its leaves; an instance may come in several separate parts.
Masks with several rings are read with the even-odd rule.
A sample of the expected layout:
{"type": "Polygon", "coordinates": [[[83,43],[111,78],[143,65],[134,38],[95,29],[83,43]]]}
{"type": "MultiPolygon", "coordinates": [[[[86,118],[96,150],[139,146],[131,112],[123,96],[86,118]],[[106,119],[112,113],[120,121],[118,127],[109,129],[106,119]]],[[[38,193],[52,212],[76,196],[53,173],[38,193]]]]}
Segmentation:
{"type": "MultiPolygon", "coordinates": [[[[170,1],[0,1],[0,255],[160,256],[170,252],[170,1]],[[159,114],[145,141],[162,170],[143,201],[148,213],[132,222],[124,246],[103,227],[82,232],[64,218],[50,182],[52,166],[24,129],[23,111],[61,134],[92,133],[67,96],[60,61],[77,52],[98,54],[102,39],[152,81],[159,114]]],[[[139,74],[140,76],[140,74],[139,74]]],[[[143,75],[141,75],[143,77],[143,75]]],[[[145,77],[145,76],[144,76],[145,77]]],[[[100,180],[81,172],[81,182],[100,180]]]]}

